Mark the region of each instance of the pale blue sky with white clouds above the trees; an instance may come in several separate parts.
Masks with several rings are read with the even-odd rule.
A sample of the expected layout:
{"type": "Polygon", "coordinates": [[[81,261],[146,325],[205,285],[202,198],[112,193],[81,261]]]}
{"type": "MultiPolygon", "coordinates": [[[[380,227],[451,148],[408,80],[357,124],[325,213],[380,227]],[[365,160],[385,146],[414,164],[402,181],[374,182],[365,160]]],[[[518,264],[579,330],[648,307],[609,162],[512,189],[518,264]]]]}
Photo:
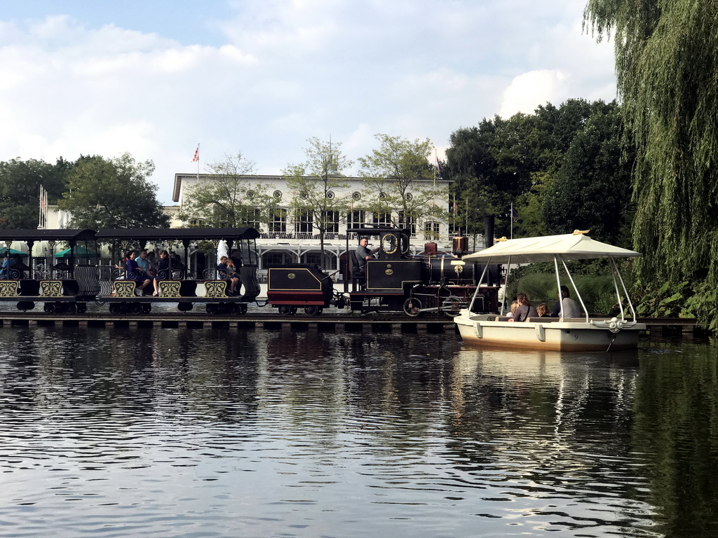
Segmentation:
{"type": "Polygon", "coordinates": [[[585,1],[4,0],[0,161],[129,153],[172,204],[174,174],[239,153],[281,174],[312,137],[443,159],[483,118],[616,98],[585,1]]]}

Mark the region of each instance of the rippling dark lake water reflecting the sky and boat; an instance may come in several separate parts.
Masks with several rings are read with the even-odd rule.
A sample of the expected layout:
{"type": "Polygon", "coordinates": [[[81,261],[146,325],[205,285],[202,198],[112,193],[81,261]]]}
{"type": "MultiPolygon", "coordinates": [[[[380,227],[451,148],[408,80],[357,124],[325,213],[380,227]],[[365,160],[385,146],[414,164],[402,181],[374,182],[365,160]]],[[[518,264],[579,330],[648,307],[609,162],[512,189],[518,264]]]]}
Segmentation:
{"type": "Polygon", "coordinates": [[[2,537],[714,537],[708,344],[0,329],[2,537]]]}

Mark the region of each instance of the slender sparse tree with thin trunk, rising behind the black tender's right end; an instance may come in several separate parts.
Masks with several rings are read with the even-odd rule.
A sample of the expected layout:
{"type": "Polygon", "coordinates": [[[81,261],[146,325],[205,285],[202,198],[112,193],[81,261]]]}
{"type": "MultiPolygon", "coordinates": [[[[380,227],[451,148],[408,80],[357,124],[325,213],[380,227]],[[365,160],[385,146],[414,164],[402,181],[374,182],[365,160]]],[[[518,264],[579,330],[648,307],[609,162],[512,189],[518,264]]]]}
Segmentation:
{"type": "Polygon", "coordinates": [[[294,222],[304,226],[306,232],[317,229],[322,251],[322,267],[325,266],[325,235],[345,219],[350,195],[348,183],[342,170],[352,166],[341,152],[341,143],[324,142],[312,137],[304,148],[307,161],[290,165],[284,170],[284,178],[294,207],[294,222]]]}

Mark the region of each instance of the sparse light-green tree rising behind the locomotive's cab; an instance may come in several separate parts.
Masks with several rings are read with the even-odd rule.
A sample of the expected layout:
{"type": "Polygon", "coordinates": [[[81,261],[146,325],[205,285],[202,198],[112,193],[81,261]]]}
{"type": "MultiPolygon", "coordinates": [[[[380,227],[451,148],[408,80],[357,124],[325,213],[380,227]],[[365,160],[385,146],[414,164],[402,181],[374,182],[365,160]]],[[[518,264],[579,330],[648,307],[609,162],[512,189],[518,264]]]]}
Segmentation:
{"type": "Polygon", "coordinates": [[[401,227],[415,226],[419,219],[449,220],[448,189],[437,187],[437,169],[429,163],[432,141],[386,134],[376,139],[379,148],[358,159],[366,209],[401,227]]]}

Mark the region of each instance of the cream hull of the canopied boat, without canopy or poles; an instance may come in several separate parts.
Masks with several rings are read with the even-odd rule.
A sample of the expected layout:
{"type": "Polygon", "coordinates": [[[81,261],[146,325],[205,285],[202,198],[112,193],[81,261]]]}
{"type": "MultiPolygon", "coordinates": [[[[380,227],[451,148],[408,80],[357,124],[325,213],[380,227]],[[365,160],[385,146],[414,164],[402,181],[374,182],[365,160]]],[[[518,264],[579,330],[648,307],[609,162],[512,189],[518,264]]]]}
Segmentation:
{"type": "MultiPolygon", "coordinates": [[[[546,351],[618,351],[635,349],[645,324],[622,322],[618,330],[610,321],[488,321],[486,316],[454,318],[466,344],[492,349],[542,349],[546,351]]],[[[615,325],[615,324],[614,324],[615,325]]]]}

